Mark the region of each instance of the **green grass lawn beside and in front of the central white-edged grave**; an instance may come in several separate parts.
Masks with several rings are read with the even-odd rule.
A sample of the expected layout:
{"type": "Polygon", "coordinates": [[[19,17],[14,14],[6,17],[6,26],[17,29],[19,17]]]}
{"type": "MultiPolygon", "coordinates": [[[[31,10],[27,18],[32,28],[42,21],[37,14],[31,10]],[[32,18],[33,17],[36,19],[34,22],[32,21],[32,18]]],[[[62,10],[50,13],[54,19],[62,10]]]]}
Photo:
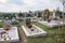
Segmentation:
{"type": "MultiPolygon", "coordinates": [[[[46,30],[48,34],[46,37],[39,37],[39,38],[26,38],[27,43],[62,43],[64,42],[65,34],[63,34],[63,31],[65,29],[63,27],[61,27],[61,34],[58,34],[58,28],[47,27],[39,23],[32,23],[32,24],[46,30]]],[[[23,22],[21,23],[21,25],[23,26],[25,25],[25,23],[23,22]]]]}

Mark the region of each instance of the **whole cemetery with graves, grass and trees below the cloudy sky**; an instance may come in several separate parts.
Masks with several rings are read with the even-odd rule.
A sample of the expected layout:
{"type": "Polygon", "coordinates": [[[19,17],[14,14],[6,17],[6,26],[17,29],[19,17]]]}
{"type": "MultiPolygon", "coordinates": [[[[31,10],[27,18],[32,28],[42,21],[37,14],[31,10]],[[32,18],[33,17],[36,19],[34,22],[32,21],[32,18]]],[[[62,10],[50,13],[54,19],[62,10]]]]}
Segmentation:
{"type": "MultiPolygon", "coordinates": [[[[65,8],[65,1],[62,1],[65,8]]],[[[65,10],[65,9],[64,9],[65,10]]],[[[0,43],[65,43],[65,11],[28,11],[0,16],[0,43]]]]}

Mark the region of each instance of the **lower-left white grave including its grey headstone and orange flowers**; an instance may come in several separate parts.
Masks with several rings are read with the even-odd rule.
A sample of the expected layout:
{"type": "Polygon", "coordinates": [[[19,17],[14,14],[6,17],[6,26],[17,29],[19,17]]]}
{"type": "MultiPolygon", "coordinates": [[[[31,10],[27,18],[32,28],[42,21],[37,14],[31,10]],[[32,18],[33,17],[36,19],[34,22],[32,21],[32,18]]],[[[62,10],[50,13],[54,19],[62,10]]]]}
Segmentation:
{"type": "Polygon", "coordinates": [[[3,19],[3,27],[0,28],[0,43],[11,43],[18,41],[17,27],[12,27],[12,20],[8,17],[3,19]]]}

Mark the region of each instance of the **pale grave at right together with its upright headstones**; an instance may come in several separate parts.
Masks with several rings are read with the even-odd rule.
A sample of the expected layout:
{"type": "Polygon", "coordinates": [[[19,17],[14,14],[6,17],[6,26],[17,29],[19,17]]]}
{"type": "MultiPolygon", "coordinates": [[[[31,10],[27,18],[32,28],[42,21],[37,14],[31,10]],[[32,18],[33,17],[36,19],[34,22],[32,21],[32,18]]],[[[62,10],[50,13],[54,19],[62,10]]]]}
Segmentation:
{"type": "Polygon", "coordinates": [[[55,11],[53,11],[52,16],[48,15],[49,18],[44,15],[43,20],[39,20],[38,23],[43,24],[44,26],[50,26],[50,27],[58,27],[58,26],[64,26],[65,22],[61,22],[60,17],[55,15],[55,11]]]}

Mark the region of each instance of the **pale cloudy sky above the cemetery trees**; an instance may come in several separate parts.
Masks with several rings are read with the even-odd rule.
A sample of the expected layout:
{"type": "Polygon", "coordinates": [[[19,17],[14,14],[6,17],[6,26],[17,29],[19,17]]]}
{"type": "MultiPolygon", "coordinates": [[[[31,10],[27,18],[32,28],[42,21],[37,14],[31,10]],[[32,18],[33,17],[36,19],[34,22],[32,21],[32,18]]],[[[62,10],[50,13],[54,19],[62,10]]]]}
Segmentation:
{"type": "Polygon", "coordinates": [[[60,0],[0,0],[0,12],[53,11],[56,8],[63,11],[60,0]]]}

